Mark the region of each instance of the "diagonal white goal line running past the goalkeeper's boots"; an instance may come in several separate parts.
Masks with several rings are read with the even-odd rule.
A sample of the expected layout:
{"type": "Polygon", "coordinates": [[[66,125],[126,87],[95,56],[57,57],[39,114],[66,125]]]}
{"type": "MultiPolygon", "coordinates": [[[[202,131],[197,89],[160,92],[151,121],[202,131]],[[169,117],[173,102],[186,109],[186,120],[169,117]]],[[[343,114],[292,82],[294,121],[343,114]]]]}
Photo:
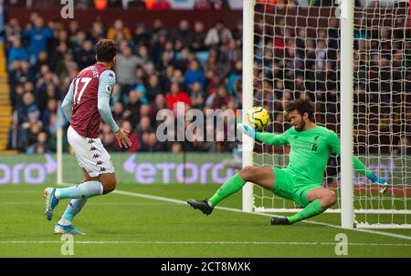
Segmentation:
{"type": "MultiPolygon", "coordinates": [[[[166,202],[172,202],[172,203],[175,203],[175,204],[184,204],[184,205],[187,204],[185,201],[179,200],[179,199],[169,199],[169,198],[146,195],[146,194],[141,194],[141,193],[136,193],[136,192],[131,192],[131,191],[125,191],[125,190],[116,189],[116,190],[113,191],[113,193],[119,194],[119,195],[142,198],[142,199],[162,200],[162,201],[166,201],[166,202]]],[[[227,208],[227,207],[216,206],[215,209],[244,213],[243,210],[234,209],[234,208],[227,208]]],[[[248,213],[248,214],[265,216],[265,217],[275,217],[275,215],[267,214],[267,213],[251,212],[251,213],[248,213]]],[[[339,226],[339,225],[334,225],[334,224],[325,223],[325,222],[312,221],[312,220],[302,220],[302,222],[309,223],[309,224],[326,226],[326,227],[331,227],[331,228],[340,229],[340,230],[345,230],[345,229],[342,229],[342,227],[339,226]]],[[[397,239],[411,240],[410,236],[405,236],[405,235],[400,235],[400,234],[395,234],[395,233],[381,232],[381,231],[376,231],[376,230],[364,230],[364,229],[353,229],[353,230],[354,231],[364,232],[364,233],[369,233],[369,234],[376,234],[376,235],[382,235],[382,236],[387,236],[387,237],[393,237],[393,238],[397,238],[397,239]]]]}

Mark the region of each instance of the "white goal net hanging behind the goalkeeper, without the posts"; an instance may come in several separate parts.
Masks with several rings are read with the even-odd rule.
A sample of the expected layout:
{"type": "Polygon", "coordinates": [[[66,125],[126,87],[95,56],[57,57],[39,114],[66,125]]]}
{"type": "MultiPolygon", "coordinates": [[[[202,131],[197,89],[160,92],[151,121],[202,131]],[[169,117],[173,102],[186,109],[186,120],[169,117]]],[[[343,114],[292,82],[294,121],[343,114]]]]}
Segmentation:
{"type": "MultiPolygon", "coordinates": [[[[301,1],[300,1],[301,2],[301,1]]],[[[310,97],[316,123],[340,134],[341,39],[339,5],[318,0],[295,6],[258,0],[254,6],[253,106],[265,107],[266,131],[290,128],[288,101],[310,97]]],[[[302,3],[302,2],[301,2],[302,3]]],[[[385,194],[354,172],[357,227],[411,225],[411,35],[408,2],[356,1],[353,20],[353,154],[380,177],[385,194]]],[[[286,167],[288,147],[256,141],[253,164],[286,167]]],[[[323,187],[340,198],[340,159],[332,156],[323,187]]],[[[339,212],[341,201],[329,212],[339,212]]],[[[253,188],[253,210],[295,212],[300,207],[253,188]]]]}

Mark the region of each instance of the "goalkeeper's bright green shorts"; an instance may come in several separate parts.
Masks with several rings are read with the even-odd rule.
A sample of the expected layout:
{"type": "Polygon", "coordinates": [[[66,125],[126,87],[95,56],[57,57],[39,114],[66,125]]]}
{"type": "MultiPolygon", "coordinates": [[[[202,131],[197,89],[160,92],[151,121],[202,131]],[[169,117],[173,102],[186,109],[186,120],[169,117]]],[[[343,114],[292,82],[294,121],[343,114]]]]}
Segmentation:
{"type": "Polygon", "coordinates": [[[309,179],[298,176],[290,169],[272,168],[275,182],[272,192],[283,199],[291,199],[301,207],[306,207],[310,201],[307,194],[311,189],[321,187],[321,183],[313,183],[309,179]]]}

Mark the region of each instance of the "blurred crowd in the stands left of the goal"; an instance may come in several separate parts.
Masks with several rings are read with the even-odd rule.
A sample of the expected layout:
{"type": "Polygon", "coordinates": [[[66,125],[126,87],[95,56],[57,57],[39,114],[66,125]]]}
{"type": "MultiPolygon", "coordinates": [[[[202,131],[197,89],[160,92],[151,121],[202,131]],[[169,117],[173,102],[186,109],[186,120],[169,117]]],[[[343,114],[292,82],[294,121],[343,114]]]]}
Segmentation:
{"type": "MultiPolygon", "coordinates": [[[[241,22],[232,30],[222,20],[205,29],[200,21],[191,26],[182,19],[167,30],[157,19],[153,26],[138,24],[130,29],[121,19],[103,26],[97,17],[90,30],[81,30],[75,20],[64,29],[32,13],[27,26],[11,18],[5,32],[16,114],[9,148],[28,153],[56,150],[59,102],[73,77],[96,62],[94,45],[103,37],[118,43],[111,108],[117,123],[131,131],[133,146],[128,151],[227,151],[234,147],[229,142],[159,143],[155,117],[158,110],[174,109],[177,102],[202,110],[241,107],[241,22]]],[[[121,150],[104,124],[101,140],[109,150],[121,150]]]]}

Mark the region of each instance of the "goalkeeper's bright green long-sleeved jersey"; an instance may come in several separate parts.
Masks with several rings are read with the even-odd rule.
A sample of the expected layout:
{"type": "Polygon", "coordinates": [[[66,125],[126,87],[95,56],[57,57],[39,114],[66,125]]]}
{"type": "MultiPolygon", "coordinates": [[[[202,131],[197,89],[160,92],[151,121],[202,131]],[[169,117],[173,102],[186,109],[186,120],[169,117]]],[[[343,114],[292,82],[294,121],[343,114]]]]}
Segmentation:
{"type": "MultiPolygon", "coordinates": [[[[288,169],[314,183],[322,182],[330,155],[340,154],[340,138],[334,131],[321,126],[305,131],[292,127],[280,135],[257,132],[256,138],[273,146],[290,145],[288,169]]],[[[353,157],[353,167],[365,176],[370,174],[370,170],[356,157],[353,157]]]]}

